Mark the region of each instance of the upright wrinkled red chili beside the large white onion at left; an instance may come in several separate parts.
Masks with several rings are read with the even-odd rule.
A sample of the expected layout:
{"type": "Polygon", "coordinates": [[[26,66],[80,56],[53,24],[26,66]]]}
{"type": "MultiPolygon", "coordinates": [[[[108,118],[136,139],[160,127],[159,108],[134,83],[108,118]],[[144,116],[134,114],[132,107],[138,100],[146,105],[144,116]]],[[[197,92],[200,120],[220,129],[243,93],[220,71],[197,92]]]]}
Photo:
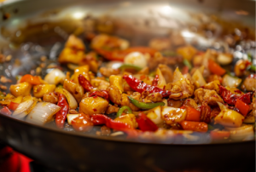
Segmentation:
{"type": "Polygon", "coordinates": [[[67,113],[68,113],[68,104],[64,95],[62,94],[59,95],[59,101],[57,105],[61,106],[61,110],[57,112],[55,115],[55,123],[58,128],[62,129],[64,127],[64,122],[67,118],[67,113]]]}

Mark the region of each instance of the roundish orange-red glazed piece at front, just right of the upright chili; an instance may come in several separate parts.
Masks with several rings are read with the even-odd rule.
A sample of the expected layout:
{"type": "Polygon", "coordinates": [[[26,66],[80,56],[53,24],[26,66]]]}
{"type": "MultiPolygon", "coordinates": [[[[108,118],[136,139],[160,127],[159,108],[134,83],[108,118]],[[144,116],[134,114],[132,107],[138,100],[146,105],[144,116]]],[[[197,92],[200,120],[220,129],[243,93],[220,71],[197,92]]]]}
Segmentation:
{"type": "Polygon", "coordinates": [[[89,131],[93,126],[93,123],[90,121],[90,116],[84,113],[80,113],[79,117],[74,118],[71,123],[73,129],[78,131],[89,131]]]}

